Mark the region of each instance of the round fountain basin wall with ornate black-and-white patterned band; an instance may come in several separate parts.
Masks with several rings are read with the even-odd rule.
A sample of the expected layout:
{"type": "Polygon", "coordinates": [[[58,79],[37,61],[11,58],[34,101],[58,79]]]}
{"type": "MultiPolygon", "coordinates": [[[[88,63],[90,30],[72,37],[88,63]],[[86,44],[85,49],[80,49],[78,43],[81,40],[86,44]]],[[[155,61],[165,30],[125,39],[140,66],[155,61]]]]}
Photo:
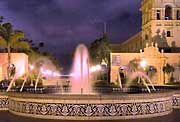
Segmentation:
{"type": "Polygon", "coordinates": [[[1,93],[0,110],[43,119],[117,120],[166,115],[173,107],[180,108],[179,101],[180,92],[130,95],[1,93]]]}

